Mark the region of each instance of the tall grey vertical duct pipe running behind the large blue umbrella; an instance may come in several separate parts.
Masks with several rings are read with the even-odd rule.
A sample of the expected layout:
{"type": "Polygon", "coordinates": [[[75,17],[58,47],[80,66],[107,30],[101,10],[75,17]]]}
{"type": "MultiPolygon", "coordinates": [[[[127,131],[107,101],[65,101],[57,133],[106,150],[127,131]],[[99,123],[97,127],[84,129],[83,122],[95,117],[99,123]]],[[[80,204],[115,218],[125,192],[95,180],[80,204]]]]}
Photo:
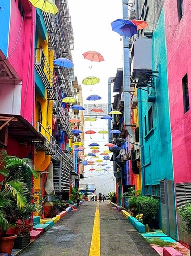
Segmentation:
{"type": "MultiPolygon", "coordinates": [[[[123,19],[128,19],[128,1],[123,0],[123,19]]],[[[129,64],[129,37],[123,37],[123,56],[124,56],[124,70],[123,70],[123,92],[124,92],[124,124],[128,131],[130,138],[134,137],[131,128],[131,109],[130,109],[130,64],[129,64]]]]}

